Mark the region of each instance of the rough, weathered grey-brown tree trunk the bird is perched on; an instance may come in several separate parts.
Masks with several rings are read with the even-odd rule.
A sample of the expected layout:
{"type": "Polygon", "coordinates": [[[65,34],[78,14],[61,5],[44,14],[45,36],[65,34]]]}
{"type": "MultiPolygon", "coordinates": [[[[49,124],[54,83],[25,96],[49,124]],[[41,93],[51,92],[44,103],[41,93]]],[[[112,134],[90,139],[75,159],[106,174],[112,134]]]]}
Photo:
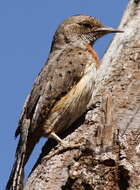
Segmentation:
{"type": "Polygon", "coordinates": [[[49,140],[24,190],[140,189],[139,0],[129,2],[119,28],[125,32],[104,55],[87,113],[65,134],[81,146],[51,150],[49,140]]]}

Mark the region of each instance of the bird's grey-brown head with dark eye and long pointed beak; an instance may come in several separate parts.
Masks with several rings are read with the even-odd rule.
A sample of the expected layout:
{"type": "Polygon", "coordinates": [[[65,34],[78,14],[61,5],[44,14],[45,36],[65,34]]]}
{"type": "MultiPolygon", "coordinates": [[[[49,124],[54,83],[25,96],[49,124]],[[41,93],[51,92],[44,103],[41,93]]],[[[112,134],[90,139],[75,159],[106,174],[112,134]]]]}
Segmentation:
{"type": "Polygon", "coordinates": [[[93,45],[103,35],[116,32],[122,31],[104,26],[94,17],[76,15],[64,20],[59,26],[54,36],[53,46],[60,47],[76,42],[93,45]]]}

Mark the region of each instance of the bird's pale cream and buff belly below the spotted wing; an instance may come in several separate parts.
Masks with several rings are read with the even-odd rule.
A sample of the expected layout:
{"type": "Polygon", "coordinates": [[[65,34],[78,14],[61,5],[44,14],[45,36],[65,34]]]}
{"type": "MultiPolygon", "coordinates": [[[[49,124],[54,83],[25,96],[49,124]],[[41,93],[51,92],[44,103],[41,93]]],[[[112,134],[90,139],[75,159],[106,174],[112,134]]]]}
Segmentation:
{"type": "Polygon", "coordinates": [[[92,64],[88,66],[82,79],[52,108],[44,123],[45,135],[66,129],[86,111],[94,89],[95,77],[96,67],[92,64]]]}

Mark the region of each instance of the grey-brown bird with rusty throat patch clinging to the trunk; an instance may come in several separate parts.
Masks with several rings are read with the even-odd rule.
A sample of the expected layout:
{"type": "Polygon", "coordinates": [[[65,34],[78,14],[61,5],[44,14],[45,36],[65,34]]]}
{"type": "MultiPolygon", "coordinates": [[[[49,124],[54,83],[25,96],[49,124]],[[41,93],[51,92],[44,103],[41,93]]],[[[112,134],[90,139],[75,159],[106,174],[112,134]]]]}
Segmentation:
{"type": "Polygon", "coordinates": [[[41,137],[64,143],[59,133],[85,112],[94,90],[100,64],[92,46],[100,37],[116,32],[122,31],[82,14],[59,25],[19,118],[15,136],[20,137],[6,190],[23,189],[24,166],[41,137]]]}

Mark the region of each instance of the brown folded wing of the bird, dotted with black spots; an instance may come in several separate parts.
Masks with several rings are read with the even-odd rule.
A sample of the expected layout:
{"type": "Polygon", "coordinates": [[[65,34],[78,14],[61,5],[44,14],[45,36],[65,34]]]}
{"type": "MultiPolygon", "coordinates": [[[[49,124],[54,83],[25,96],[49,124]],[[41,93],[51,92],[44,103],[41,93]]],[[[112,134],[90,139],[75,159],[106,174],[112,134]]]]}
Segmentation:
{"type": "MultiPolygon", "coordinates": [[[[26,100],[19,126],[24,119],[30,119],[31,131],[40,126],[55,103],[81,79],[87,62],[87,51],[80,48],[50,55],[26,100]]],[[[18,128],[16,136],[19,133],[18,128]]]]}

